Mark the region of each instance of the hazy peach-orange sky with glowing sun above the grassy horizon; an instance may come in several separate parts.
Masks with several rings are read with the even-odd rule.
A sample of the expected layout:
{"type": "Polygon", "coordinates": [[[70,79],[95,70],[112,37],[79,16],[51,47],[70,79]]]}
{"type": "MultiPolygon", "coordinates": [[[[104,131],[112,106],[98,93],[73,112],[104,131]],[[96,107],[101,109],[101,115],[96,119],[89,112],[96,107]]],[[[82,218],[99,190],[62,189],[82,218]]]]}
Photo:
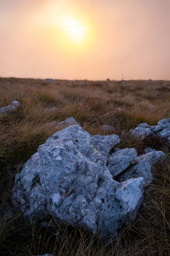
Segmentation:
{"type": "Polygon", "coordinates": [[[0,76],[169,79],[170,0],[0,0],[0,76]]]}

